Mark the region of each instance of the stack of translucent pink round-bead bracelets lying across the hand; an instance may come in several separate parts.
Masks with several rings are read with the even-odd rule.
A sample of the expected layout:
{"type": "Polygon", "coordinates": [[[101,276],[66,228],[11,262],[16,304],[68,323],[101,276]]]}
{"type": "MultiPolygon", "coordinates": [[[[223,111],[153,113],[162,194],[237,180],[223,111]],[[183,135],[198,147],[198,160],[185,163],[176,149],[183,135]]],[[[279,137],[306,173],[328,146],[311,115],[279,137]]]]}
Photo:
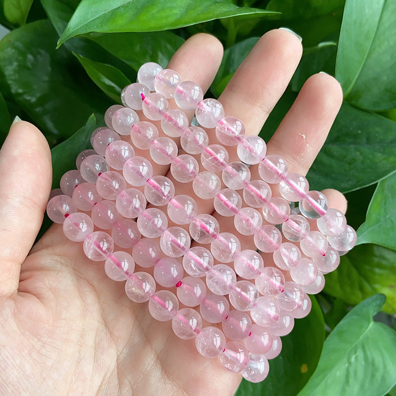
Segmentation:
{"type": "Polygon", "coordinates": [[[304,176],[288,174],[284,158],[266,155],[260,137],[245,136],[241,120],[226,117],[218,100],[203,99],[201,88],[182,82],[175,71],[144,64],[138,83],[127,86],[121,100],[124,106],[106,111],[107,128],[93,132],[94,150],[81,152],[78,170],[63,175],[61,193],[48,202],[49,218],[63,223],[68,239],[84,243],[87,257],[105,261],[109,278],[126,280],[132,301],[148,301],[153,318],[171,320],[176,336],[195,338],[201,355],[218,356],[228,370],[262,381],[267,359],[280,353],[280,336],[309,313],[307,294],[323,289],[323,274],[335,270],[340,255],[355,245],[355,231],[342,212],[328,208],[321,192],[308,191],[304,176]],[[169,110],[170,98],[180,109],[169,110]],[[160,121],[168,137],[140,122],[135,110],[160,121]],[[237,146],[240,161],[229,162],[224,146],[209,145],[205,130],[189,126],[182,110],[195,110],[201,127],[215,128],[224,146],[237,146]],[[130,136],[130,143],[120,135],[130,136]],[[180,155],[172,139],[179,137],[185,152],[180,155]],[[195,199],[175,195],[173,182],[153,175],[150,160],[135,156],[134,147],[148,150],[157,164],[170,164],[172,177],[192,182],[194,193],[211,199],[220,216],[234,216],[236,230],[253,236],[257,250],[241,250],[238,237],[220,232],[214,216],[197,214],[195,199]],[[260,180],[250,180],[253,166],[260,180]],[[272,197],[268,184],[277,184],[281,197],[272,197]],[[157,208],[165,205],[166,210],[157,208]],[[168,217],[184,227],[168,228],[168,217]],[[319,231],[310,231],[314,223],[307,219],[316,220],[319,231]],[[271,253],[273,263],[264,265],[261,253],[271,253]],[[135,263],[153,267],[153,275],[134,272],[135,263]]]}

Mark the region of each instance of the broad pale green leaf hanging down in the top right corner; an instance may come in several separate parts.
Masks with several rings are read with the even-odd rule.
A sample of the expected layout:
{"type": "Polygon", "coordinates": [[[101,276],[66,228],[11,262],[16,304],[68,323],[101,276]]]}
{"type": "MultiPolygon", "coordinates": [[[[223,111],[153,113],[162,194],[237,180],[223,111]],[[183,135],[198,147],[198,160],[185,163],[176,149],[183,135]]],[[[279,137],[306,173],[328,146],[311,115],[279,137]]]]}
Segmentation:
{"type": "Polygon", "coordinates": [[[347,0],[336,77],[357,107],[396,107],[396,1],[347,0]]]}

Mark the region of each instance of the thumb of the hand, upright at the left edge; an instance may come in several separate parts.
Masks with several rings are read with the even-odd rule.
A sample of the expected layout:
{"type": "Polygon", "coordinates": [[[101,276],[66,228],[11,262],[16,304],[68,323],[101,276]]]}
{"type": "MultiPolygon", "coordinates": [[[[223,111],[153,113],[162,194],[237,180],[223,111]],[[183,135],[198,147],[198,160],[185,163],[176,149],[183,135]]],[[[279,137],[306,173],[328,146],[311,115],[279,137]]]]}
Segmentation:
{"type": "Polygon", "coordinates": [[[0,150],[0,295],[18,289],[20,266],[43,221],[51,155],[41,132],[17,122],[0,150]]]}

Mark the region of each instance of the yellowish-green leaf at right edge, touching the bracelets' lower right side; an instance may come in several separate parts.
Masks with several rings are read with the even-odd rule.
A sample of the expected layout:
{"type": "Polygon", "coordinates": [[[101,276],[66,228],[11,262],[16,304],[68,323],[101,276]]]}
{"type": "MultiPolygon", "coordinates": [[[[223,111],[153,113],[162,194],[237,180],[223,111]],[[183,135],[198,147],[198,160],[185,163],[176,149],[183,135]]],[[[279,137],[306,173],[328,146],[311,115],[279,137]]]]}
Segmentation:
{"type": "Polygon", "coordinates": [[[357,304],[376,293],[387,297],[384,311],[396,313],[396,252],[377,245],[359,245],[341,257],[339,267],[326,275],[324,291],[357,304]]]}

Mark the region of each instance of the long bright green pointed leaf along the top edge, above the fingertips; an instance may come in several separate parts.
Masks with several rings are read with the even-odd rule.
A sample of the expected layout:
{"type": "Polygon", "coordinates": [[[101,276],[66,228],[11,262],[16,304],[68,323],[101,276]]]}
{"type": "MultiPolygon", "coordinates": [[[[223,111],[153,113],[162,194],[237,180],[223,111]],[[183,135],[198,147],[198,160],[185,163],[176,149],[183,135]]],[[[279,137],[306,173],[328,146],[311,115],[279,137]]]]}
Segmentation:
{"type": "Polygon", "coordinates": [[[82,0],[58,45],[89,32],[152,32],[246,14],[273,12],[238,7],[227,0],[82,0]]]}

